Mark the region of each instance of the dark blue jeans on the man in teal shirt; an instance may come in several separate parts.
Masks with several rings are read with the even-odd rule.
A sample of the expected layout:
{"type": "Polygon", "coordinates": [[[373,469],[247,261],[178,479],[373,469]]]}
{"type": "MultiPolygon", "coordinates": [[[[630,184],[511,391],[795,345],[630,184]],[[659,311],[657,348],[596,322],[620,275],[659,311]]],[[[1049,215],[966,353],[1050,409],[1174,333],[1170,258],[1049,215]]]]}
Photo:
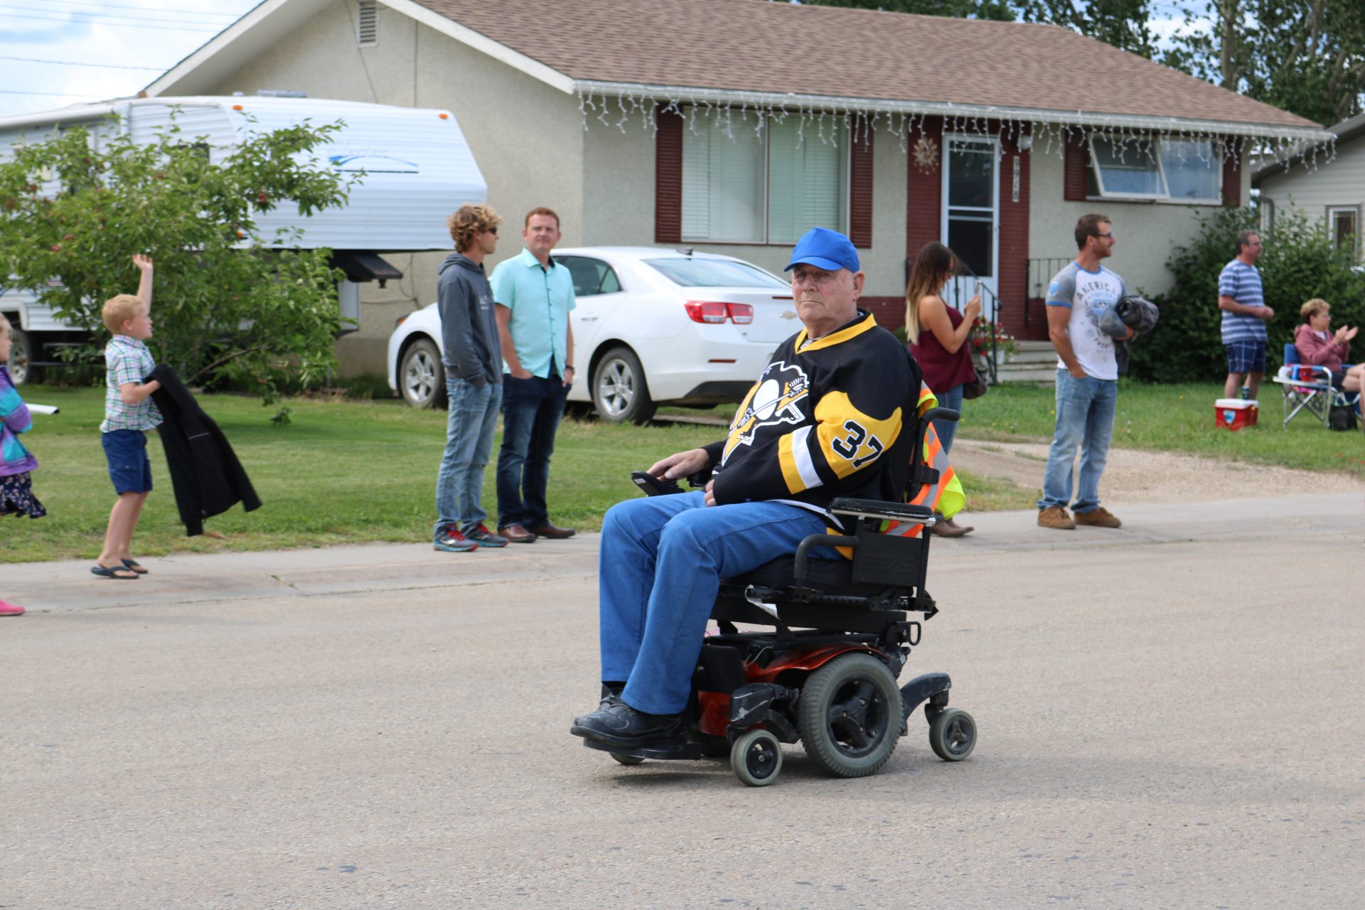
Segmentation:
{"type": "Polygon", "coordinates": [[[554,432],[564,416],[568,387],[547,379],[502,374],[502,449],[498,452],[498,527],[535,531],[550,521],[545,502],[554,432]]]}

